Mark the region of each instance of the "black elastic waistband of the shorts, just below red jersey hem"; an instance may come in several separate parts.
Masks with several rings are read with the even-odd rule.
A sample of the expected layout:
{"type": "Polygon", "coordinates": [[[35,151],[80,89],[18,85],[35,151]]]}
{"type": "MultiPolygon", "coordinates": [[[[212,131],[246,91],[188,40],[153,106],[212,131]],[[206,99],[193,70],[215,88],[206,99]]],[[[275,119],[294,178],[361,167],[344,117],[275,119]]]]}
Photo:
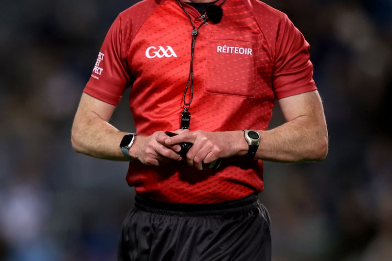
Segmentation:
{"type": "Polygon", "coordinates": [[[171,216],[207,216],[244,213],[259,206],[257,194],[213,204],[171,204],[135,196],[135,207],[142,211],[171,216]]]}

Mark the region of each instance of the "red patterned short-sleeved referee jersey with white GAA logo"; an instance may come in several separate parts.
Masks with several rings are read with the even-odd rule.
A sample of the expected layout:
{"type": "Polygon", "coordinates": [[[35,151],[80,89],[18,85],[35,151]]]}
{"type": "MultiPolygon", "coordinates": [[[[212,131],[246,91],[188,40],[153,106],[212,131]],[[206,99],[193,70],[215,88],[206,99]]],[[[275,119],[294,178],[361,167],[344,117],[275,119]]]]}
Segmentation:
{"type": "MultiPolygon", "coordinates": [[[[182,5],[197,28],[200,14],[182,5]]],[[[221,23],[204,24],[196,38],[190,130],[265,130],[275,99],[317,90],[309,45],[285,14],[261,1],[226,0],[221,7],[221,23]]],[[[177,0],[138,2],[112,24],[84,92],[117,105],[132,86],[138,133],[179,129],[192,29],[177,0]]],[[[203,171],[186,162],[131,162],[126,180],[138,194],[168,203],[217,203],[264,189],[262,161],[244,157],[203,171]]]]}

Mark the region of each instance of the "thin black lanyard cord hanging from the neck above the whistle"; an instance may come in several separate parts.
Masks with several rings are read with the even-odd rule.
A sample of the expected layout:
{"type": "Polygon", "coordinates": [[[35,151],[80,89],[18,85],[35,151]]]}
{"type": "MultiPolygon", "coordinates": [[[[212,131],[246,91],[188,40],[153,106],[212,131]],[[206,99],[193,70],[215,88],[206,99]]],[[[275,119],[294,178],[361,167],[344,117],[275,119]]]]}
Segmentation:
{"type": "Polygon", "coordinates": [[[181,2],[178,0],[178,5],[181,7],[181,9],[184,11],[184,13],[188,16],[189,21],[191,21],[192,24],[192,44],[191,44],[191,62],[189,66],[189,74],[188,74],[188,81],[187,81],[187,86],[185,87],[184,95],[182,96],[182,101],[184,102],[184,107],[190,107],[192,100],[193,100],[193,93],[194,93],[194,74],[193,74],[193,57],[194,57],[194,52],[195,52],[195,44],[196,44],[196,37],[198,35],[199,29],[203,24],[205,24],[206,20],[203,20],[203,22],[197,27],[195,27],[194,22],[192,21],[191,16],[188,14],[188,12],[185,10],[185,8],[182,6],[181,2]],[[188,89],[191,87],[191,97],[189,101],[186,101],[186,95],[188,93],[188,89]]]}

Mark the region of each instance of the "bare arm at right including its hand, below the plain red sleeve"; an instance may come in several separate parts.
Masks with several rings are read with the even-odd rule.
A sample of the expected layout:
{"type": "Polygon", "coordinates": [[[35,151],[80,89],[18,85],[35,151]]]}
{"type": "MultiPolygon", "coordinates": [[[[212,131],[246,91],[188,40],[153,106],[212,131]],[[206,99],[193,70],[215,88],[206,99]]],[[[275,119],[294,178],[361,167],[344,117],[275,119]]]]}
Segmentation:
{"type": "MultiPolygon", "coordinates": [[[[328,152],[328,133],[321,99],[317,91],[279,100],[286,123],[272,130],[258,130],[261,143],[256,158],[278,162],[322,160],[328,152]]],[[[166,140],[172,145],[192,142],[188,164],[202,169],[201,163],[218,158],[245,155],[248,145],[243,131],[182,133],[166,140]]]]}

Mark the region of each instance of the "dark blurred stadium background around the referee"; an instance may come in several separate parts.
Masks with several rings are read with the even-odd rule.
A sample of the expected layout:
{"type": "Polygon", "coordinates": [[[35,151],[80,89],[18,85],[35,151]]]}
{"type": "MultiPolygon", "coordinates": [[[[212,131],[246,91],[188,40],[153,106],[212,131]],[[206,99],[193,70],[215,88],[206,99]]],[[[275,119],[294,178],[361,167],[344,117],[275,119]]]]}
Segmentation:
{"type": "MultiPolygon", "coordinates": [[[[127,164],[75,153],[70,135],[106,31],[133,2],[2,2],[0,261],[116,260],[127,164]]],[[[392,0],[266,2],[311,45],[330,135],[322,162],[265,164],[273,261],[390,261],[392,0]]],[[[282,121],[276,108],[271,127],[282,121]]],[[[133,130],[126,100],[113,123],[133,130]]]]}

